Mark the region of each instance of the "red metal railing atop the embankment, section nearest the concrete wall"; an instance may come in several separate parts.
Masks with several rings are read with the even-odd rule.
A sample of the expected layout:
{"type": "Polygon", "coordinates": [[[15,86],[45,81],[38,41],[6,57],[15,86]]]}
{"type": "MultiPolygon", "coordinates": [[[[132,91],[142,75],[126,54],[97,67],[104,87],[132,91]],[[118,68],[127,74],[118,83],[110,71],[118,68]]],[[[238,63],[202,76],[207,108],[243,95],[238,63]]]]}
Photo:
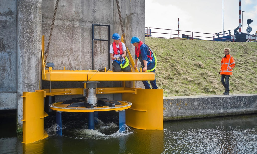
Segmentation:
{"type": "Polygon", "coordinates": [[[192,33],[190,31],[180,31],[180,30],[171,30],[171,29],[164,29],[164,28],[153,28],[153,27],[145,27],[146,31],[145,31],[145,36],[146,37],[159,37],[159,38],[175,38],[175,39],[191,39],[192,37],[192,33]],[[153,31],[153,30],[159,30],[161,32],[156,32],[156,31],[153,31]],[[175,31],[177,33],[172,33],[172,31],[175,31]],[[186,34],[179,34],[180,32],[190,32],[190,35],[186,35],[186,34]],[[154,34],[164,34],[164,35],[168,35],[169,37],[161,37],[161,36],[153,36],[153,33],[154,34]],[[172,35],[176,35],[175,37],[172,37],[172,35]],[[181,36],[181,38],[178,37],[181,36]]]}

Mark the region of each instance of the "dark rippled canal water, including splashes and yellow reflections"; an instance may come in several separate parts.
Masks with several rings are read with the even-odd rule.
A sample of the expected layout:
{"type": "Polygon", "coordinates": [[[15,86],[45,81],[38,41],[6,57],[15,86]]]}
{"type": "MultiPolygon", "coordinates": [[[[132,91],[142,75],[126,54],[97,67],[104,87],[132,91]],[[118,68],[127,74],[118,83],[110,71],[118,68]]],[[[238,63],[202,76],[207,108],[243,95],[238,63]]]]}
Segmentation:
{"type": "MultiPolygon", "coordinates": [[[[55,117],[48,117],[48,138],[23,144],[22,138],[2,133],[0,153],[257,153],[257,114],[168,121],[162,131],[127,127],[125,133],[118,131],[117,115],[99,119],[96,130],[88,130],[87,114],[63,114],[63,136],[58,136],[55,117]]],[[[8,123],[4,126],[0,131],[8,130],[8,123]]]]}

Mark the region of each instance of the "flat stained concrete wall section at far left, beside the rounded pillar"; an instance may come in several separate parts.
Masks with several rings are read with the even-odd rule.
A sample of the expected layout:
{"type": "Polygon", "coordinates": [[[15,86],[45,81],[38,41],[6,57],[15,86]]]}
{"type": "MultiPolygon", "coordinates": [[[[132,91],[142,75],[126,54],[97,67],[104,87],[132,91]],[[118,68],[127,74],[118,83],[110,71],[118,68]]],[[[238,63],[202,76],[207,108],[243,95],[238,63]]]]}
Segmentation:
{"type": "Polygon", "coordinates": [[[17,108],[17,2],[0,3],[0,110],[10,110],[17,108]]]}

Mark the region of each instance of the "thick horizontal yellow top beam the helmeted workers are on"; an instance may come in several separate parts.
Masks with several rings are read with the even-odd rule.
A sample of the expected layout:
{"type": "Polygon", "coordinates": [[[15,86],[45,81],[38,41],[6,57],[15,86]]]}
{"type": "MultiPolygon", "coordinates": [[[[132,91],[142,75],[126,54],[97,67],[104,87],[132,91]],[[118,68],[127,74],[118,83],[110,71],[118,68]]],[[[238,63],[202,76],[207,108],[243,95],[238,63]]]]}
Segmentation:
{"type": "Polygon", "coordinates": [[[153,72],[97,72],[96,70],[50,70],[46,81],[141,81],[154,80],[153,72]]]}

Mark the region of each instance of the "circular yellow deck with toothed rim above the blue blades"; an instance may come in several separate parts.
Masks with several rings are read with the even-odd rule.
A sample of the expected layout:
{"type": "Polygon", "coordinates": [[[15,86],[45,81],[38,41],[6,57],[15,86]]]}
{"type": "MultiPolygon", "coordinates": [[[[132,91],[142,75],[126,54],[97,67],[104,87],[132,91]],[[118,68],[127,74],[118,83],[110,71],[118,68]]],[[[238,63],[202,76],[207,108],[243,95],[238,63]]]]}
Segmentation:
{"type": "Polygon", "coordinates": [[[132,103],[126,101],[118,101],[121,105],[115,105],[115,107],[94,107],[92,109],[86,107],[69,107],[70,104],[61,104],[62,102],[52,103],[50,104],[50,109],[54,111],[62,111],[62,112],[95,112],[95,111],[121,111],[131,107],[132,103]]]}

